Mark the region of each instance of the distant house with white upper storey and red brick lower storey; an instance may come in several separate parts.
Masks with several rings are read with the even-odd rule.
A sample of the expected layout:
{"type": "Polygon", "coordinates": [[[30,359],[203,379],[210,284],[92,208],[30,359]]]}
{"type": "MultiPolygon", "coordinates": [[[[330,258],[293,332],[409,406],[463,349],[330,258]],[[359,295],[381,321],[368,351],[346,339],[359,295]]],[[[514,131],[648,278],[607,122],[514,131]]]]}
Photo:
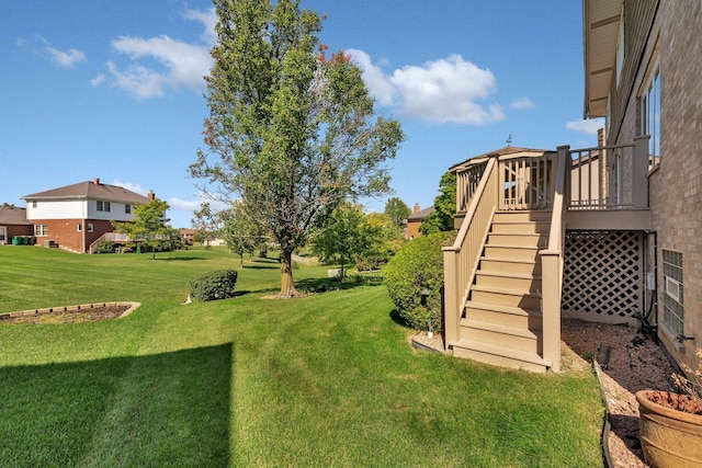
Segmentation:
{"type": "Polygon", "coordinates": [[[53,242],[72,252],[88,252],[90,246],[114,229],[111,221],[129,221],[134,206],[154,199],[100,179],[25,195],[26,218],[34,226],[39,244],[53,242]]]}

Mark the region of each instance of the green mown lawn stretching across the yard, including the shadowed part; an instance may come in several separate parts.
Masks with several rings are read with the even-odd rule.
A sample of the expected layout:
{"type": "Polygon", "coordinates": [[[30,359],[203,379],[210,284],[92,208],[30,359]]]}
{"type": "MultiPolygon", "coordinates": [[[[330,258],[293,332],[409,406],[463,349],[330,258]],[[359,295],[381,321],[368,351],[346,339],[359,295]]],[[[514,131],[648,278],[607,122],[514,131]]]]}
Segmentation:
{"type": "MultiPolygon", "coordinates": [[[[0,323],[0,466],[601,467],[591,373],[533,375],[415,352],[385,286],[183,305],[226,250],[78,255],[0,247],[0,312],[138,301],[118,320],[0,323]]],[[[326,278],[301,266],[298,285],[326,278]]]]}

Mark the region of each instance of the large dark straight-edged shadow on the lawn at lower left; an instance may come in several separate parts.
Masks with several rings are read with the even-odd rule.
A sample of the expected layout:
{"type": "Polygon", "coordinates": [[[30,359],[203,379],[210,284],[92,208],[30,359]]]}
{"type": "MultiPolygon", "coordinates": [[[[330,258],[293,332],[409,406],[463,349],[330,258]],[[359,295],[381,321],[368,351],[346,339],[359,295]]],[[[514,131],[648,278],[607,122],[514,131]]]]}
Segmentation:
{"type": "Polygon", "coordinates": [[[233,344],[0,368],[0,466],[228,466],[233,344]]]}

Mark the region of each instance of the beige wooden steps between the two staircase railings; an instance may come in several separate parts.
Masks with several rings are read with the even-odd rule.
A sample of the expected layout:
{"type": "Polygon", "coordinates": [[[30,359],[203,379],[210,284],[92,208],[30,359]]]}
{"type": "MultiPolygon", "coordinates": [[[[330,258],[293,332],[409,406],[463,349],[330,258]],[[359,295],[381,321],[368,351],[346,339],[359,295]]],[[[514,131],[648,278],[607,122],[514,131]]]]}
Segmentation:
{"type": "Polygon", "coordinates": [[[460,321],[453,353],[503,367],[546,372],[542,358],[540,250],[550,212],[498,212],[460,321]]]}

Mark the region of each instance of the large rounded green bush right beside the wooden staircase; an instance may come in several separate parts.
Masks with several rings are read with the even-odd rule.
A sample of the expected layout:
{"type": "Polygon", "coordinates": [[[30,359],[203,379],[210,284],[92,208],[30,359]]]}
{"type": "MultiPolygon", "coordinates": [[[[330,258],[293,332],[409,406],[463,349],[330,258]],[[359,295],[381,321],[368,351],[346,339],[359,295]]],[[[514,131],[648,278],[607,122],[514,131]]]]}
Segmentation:
{"type": "Polygon", "coordinates": [[[397,312],[416,330],[441,330],[443,253],[455,232],[419,237],[397,251],[384,271],[385,285],[397,312]],[[421,292],[429,290],[426,305],[421,292]]]}

